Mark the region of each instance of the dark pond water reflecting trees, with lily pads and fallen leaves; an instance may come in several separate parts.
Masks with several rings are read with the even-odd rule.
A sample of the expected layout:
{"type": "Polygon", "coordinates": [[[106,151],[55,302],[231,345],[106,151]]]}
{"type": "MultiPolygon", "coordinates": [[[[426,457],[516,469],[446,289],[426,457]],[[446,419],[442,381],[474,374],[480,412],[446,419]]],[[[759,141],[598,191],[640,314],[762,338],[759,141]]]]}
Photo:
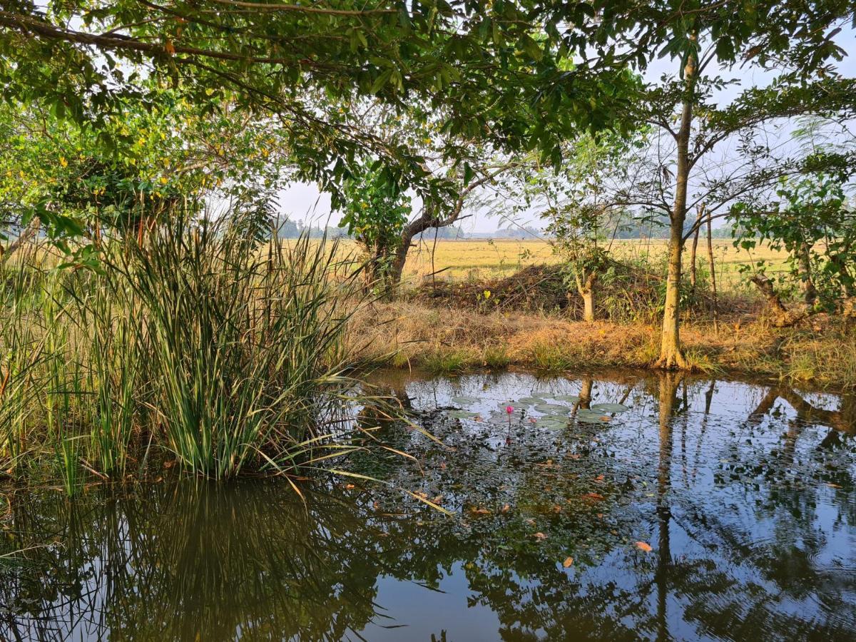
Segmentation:
{"type": "Polygon", "coordinates": [[[389,486],[9,492],[0,639],[856,639],[853,396],[378,381],[436,439],[384,425],[389,486]]]}

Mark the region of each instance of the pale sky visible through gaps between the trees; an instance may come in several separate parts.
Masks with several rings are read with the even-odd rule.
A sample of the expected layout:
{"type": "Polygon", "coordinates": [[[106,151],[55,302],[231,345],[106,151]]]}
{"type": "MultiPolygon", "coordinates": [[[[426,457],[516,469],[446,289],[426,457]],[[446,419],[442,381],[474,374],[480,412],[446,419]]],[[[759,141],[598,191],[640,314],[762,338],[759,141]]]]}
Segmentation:
{"type": "MultiPolygon", "coordinates": [[[[845,27],[835,38],[841,48],[847,52],[847,57],[837,64],[838,71],[845,76],[856,76],[856,30],[845,27]]],[[[664,73],[674,73],[675,62],[669,59],[657,59],[651,63],[645,71],[644,78],[647,81],[658,80],[664,73]]],[[[749,86],[766,86],[776,77],[776,72],[763,69],[736,68],[728,70],[722,68],[719,72],[724,78],[736,78],[740,80],[739,85],[727,86],[715,95],[716,102],[727,104],[737,94],[749,86]]],[[[312,184],[295,182],[277,194],[280,211],[291,220],[300,220],[303,223],[311,223],[313,227],[324,227],[325,225],[336,225],[341,215],[330,211],[330,195],[322,193],[318,187],[312,184]]],[[[413,199],[414,213],[419,208],[419,199],[413,199]]],[[[515,223],[509,223],[501,217],[491,215],[490,211],[467,212],[472,214],[466,220],[461,221],[459,226],[467,233],[492,232],[498,228],[507,228],[509,224],[516,227],[520,225],[535,225],[543,227],[538,220],[536,212],[523,215],[515,223]]],[[[716,227],[716,226],[715,226],[716,227]]]]}

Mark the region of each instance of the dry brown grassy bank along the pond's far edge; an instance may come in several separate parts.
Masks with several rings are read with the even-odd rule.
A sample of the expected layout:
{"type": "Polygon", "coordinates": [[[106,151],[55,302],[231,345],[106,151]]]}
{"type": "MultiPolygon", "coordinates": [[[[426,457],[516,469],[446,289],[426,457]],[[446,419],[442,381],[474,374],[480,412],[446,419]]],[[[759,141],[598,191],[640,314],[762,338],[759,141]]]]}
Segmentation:
{"type": "MultiPolygon", "coordinates": [[[[773,328],[758,315],[742,321],[723,318],[716,326],[688,321],[681,336],[698,372],[856,388],[856,330],[827,315],[788,329],[773,328]]],[[[564,372],[651,367],[659,353],[659,328],[395,301],[361,312],[354,319],[351,342],[367,359],[437,373],[507,366],[564,372]]]]}

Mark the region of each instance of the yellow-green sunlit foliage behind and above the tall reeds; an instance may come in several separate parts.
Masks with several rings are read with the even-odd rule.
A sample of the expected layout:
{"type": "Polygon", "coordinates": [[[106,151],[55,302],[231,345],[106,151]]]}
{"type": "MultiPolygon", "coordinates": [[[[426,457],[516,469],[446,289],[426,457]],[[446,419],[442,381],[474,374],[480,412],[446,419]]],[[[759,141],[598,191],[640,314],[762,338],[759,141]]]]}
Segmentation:
{"type": "Polygon", "coordinates": [[[282,180],[264,122],[239,127],[235,113],[199,116],[175,92],[155,97],[105,117],[101,129],[57,118],[44,102],[0,105],[0,223],[38,218],[68,252],[71,239],[137,231],[205,196],[246,199],[253,181],[282,180]]]}

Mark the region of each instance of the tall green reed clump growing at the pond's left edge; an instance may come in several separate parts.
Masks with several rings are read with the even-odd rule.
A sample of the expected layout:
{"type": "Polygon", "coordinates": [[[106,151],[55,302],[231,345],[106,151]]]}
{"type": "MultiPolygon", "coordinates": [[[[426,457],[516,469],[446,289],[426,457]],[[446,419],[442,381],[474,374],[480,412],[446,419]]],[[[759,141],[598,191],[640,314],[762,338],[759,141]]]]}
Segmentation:
{"type": "Polygon", "coordinates": [[[349,374],[360,269],[335,241],[259,242],[179,217],[103,240],[96,270],[0,273],[0,466],[124,479],[155,457],[216,479],[359,448],[349,374]],[[355,430],[355,429],[354,429],[355,430]]]}

